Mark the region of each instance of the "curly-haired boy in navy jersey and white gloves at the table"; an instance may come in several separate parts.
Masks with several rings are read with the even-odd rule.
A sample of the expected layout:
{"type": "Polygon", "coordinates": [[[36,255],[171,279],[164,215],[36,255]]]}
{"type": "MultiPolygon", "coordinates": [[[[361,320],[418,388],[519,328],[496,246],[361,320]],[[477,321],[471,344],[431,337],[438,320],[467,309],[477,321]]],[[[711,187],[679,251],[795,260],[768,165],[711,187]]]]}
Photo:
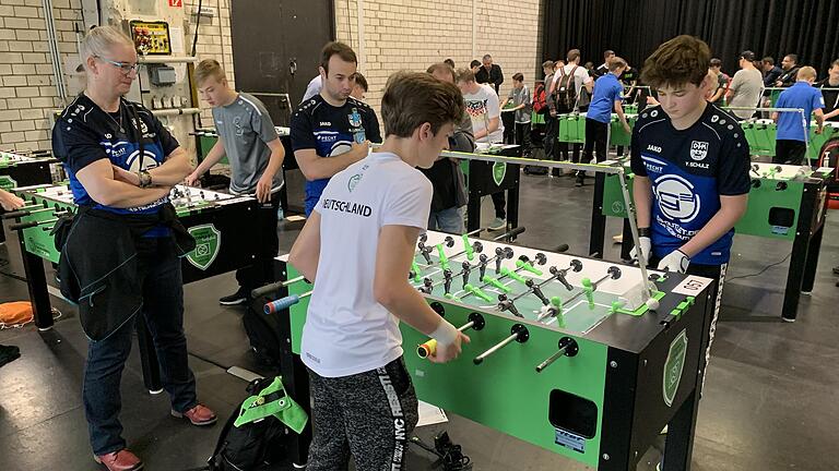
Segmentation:
{"type": "Polygon", "coordinates": [[[643,255],[659,269],[717,280],[706,365],[734,224],[751,188],[737,119],[705,99],[709,65],[708,45],[693,36],[677,36],[647,59],[643,82],[658,90],[660,105],[638,117],[631,144],[643,255]]]}

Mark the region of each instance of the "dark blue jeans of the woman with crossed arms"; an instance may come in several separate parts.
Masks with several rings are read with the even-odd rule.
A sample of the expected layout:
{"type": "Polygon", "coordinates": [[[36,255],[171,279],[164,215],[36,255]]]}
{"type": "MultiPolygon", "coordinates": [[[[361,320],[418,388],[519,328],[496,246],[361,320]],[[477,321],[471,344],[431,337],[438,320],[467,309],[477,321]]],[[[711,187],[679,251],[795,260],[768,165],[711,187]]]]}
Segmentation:
{"type": "MultiPolygon", "coordinates": [[[[142,315],[154,340],[163,387],[172,408],[186,412],[193,408],[196,377],[187,362],[184,335],[184,281],[180,259],[169,238],[147,238],[138,243],[140,276],[143,278],[142,315]]],[[[95,455],[126,447],[121,437],[119,411],[122,407],[119,384],[131,351],[134,317],[107,338],[87,343],[82,397],[91,446],[95,455]]]]}

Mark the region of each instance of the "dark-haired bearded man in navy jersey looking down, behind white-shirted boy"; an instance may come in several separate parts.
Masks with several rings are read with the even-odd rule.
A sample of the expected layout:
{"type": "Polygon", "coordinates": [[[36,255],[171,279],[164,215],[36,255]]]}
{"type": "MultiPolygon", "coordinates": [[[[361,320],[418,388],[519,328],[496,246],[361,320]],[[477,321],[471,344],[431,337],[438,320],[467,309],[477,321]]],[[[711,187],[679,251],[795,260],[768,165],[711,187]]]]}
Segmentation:
{"type": "Polygon", "coordinates": [[[320,62],[323,87],[292,117],[292,148],[306,177],[306,216],[332,176],[367,157],[370,142],[381,142],[373,108],[350,96],[357,64],[350,46],[327,44],[320,62]]]}

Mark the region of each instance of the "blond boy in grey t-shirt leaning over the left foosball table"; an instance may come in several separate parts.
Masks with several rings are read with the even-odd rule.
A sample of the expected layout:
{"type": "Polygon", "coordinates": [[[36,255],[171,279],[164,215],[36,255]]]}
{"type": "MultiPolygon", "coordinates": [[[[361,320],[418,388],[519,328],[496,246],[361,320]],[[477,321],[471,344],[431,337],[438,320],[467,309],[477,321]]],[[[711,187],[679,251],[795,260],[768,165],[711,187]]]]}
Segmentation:
{"type": "Polygon", "coordinates": [[[194,185],[204,172],[227,155],[231,193],[253,195],[260,203],[258,242],[262,253],[252,266],[236,270],[238,290],[218,300],[223,305],[243,304],[248,301],[250,290],[273,280],[273,258],[280,247],[276,216],[285,150],[265,106],[249,94],[232,89],[218,62],[201,61],[196,68],[196,83],[202,97],[213,107],[218,142],[187,177],[187,184],[194,185]]]}

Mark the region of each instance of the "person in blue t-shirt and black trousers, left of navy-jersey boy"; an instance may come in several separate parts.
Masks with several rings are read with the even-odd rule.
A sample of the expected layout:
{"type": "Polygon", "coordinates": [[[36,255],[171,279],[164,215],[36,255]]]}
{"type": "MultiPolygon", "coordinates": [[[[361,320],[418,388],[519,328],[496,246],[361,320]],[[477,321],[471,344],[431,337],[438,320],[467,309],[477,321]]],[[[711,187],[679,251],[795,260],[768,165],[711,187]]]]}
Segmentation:
{"type": "MultiPolygon", "coordinates": [[[[631,132],[624,116],[624,107],[621,105],[624,94],[624,85],[617,77],[626,70],[626,61],[619,57],[608,60],[608,73],[594,82],[594,96],[591,98],[589,111],[586,113],[586,147],[582,161],[593,161],[592,152],[596,149],[596,161],[606,159],[606,145],[608,143],[608,125],[612,122],[612,110],[624,125],[627,133],[631,132]]],[[[577,173],[577,186],[582,186],[586,172],[577,173]]]]}

